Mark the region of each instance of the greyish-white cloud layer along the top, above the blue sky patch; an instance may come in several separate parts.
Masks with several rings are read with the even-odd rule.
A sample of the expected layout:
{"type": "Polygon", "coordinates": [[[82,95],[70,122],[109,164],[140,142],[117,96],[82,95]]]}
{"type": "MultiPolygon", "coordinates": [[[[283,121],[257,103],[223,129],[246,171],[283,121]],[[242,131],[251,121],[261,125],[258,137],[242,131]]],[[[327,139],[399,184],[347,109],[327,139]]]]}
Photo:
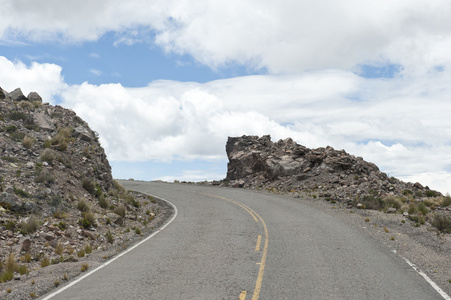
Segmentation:
{"type": "Polygon", "coordinates": [[[4,42],[73,43],[114,31],[116,44],[132,45],[154,34],[166,51],[212,68],[242,64],[289,73],[392,63],[403,74],[423,75],[451,67],[447,0],[16,0],[2,11],[4,42]]]}

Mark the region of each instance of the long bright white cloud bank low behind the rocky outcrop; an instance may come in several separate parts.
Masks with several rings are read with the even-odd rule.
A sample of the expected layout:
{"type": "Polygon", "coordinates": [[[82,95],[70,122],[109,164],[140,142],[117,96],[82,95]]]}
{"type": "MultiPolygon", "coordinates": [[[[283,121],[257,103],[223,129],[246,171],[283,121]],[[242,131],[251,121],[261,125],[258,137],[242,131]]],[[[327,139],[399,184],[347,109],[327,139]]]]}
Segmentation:
{"type": "Polygon", "coordinates": [[[143,88],[84,83],[62,98],[99,131],[113,160],[225,160],[228,136],[271,134],[345,149],[412,178],[451,165],[446,82],[430,78],[419,88],[402,78],[324,71],[143,88]]]}

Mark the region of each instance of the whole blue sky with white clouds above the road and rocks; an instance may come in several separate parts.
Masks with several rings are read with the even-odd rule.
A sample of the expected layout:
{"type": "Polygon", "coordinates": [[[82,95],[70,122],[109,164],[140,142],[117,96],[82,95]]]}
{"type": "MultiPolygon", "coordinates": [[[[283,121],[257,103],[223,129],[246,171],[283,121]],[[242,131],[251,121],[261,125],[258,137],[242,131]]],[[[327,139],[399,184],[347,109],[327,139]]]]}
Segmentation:
{"type": "Polygon", "coordinates": [[[115,178],[223,179],[229,136],[451,192],[448,0],[0,0],[0,87],[99,133],[115,178]]]}

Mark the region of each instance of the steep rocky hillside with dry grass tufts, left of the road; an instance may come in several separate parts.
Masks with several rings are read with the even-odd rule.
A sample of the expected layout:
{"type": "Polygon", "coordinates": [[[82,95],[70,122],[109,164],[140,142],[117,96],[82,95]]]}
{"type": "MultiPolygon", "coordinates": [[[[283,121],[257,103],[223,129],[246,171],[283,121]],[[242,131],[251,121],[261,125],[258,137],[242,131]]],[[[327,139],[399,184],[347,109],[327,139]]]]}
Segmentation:
{"type": "Polygon", "coordinates": [[[11,279],[25,281],[47,264],[77,262],[139,236],[162,209],[113,180],[97,134],[85,121],[42,103],[34,92],[25,97],[20,89],[0,88],[0,157],[2,299],[7,293],[30,296],[14,296],[14,288],[6,292],[11,279]]]}

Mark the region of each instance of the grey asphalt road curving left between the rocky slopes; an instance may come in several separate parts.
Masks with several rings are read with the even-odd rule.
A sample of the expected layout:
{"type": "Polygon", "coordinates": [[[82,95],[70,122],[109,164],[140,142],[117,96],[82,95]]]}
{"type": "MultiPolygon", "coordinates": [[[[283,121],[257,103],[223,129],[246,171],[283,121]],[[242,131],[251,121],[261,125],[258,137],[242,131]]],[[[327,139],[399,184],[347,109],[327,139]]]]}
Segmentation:
{"type": "Polygon", "coordinates": [[[51,299],[444,299],[387,247],[302,200],[122,183],[169,200],[177,216],[51,299]]]}

